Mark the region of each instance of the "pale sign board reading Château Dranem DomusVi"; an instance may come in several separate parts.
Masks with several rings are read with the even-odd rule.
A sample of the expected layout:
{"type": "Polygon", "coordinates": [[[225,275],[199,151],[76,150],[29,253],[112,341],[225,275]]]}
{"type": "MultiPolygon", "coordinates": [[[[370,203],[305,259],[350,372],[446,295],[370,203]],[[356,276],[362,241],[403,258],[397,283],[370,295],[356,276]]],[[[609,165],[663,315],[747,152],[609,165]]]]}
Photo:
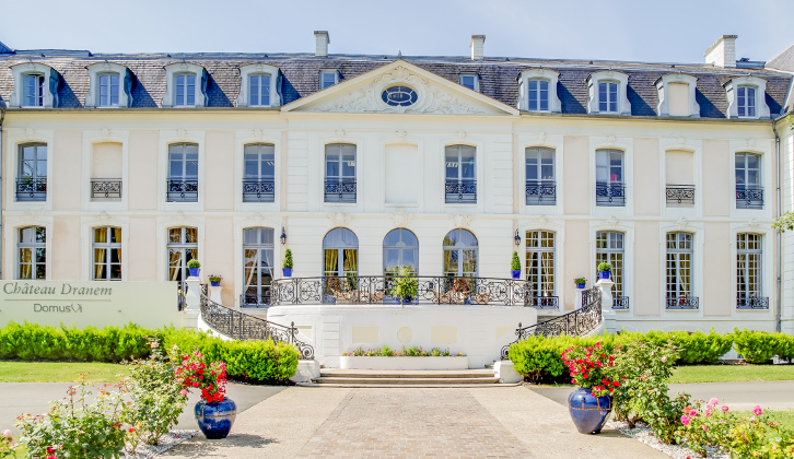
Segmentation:
{"type": "Polygon", "coordinates": [[[0,281],[0,327],[182,327],[176,282],[0,281]]]}

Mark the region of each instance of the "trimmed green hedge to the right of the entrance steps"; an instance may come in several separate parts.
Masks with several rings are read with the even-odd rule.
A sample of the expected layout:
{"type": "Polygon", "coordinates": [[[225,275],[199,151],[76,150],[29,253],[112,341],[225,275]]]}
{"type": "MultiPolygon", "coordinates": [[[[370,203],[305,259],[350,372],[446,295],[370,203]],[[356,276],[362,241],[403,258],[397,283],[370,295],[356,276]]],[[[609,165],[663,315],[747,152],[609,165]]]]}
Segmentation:
{"type": "Polygon", "coordinates": [[[562,365],[562,351],[575,346],[593,346],[602,342],[607,351],[629,341],[646,341],[657,345],[672,341],[679,351],[679,365],[710,365],[733,346],[748,363],[761,364],[769,362],[774,355],[794,362],[794,337],[785,333],[767,333],[762,331],[739,331],[717,333],[711,330],[664,332],[652,330],[643,332],[620,332],[597,337],[530,337],[510,348],[510,360],[515,370],[532,381],[560,382],[568,379],[568,372],[562,365]]]}

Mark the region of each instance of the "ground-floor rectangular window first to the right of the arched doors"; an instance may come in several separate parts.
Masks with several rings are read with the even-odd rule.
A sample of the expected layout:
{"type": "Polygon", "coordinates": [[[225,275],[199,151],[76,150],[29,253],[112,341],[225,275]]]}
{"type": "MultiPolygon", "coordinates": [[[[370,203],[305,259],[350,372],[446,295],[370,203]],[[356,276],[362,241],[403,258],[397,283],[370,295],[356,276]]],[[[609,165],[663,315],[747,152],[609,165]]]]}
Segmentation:
{"type": "Polygon", "coordinates": [[[526,232],[526,280],[533,286],[537,305],[557,307],[554,299],[554,233],[526,232]]]}

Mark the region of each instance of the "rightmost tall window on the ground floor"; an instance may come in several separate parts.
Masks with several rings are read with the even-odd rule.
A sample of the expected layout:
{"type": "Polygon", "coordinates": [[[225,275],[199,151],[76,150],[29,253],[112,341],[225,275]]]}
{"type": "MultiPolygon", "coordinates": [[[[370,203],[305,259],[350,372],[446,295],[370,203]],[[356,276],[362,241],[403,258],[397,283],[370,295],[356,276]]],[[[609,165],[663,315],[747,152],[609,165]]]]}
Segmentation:
{"type": "Polygon", "coordinates": [[[739,308],[768,308],[762,297],[763,239],[760,234],[736,235],[736,303],[739,308]]]}

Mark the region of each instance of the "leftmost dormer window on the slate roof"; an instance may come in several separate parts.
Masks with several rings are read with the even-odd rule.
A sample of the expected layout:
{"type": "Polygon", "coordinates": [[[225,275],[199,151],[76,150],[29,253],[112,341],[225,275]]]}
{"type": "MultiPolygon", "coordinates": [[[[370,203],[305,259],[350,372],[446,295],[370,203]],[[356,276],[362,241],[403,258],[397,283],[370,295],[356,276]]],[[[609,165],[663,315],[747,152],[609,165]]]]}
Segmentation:
{"type": "Polygon", "coordinates": [[[58,106],[58,82],[60,76],[49,66],[24,62],[11,66],[14,75],[14,91],[9,106],[14,108],[55,108],[58,106]]]}

